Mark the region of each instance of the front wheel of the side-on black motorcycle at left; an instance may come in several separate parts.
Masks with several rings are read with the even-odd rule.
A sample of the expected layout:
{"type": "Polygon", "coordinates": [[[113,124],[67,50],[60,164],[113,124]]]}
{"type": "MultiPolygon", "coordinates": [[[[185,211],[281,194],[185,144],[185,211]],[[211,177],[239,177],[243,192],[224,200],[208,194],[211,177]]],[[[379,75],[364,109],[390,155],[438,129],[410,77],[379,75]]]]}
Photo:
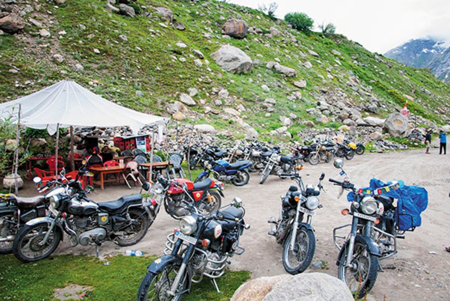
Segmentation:
{"type": "Polygon", "coordinates": [[[45,236],[45,233],[49,230],[50,225],[46,222],[34,224],[32,226],[25,225],[16,235],[13,243],[13,253],[17,259],[23,262],[38,261],[50,256],[58,247],[62,238],[61,230],[58,227],[53,229],[53,233],[50,234],[47,243],[44,246],[40,246],[39,243],[45,236]],[[33,235],[32,233],[35,233],[33,235]],[[33,235],[30,237],[30,235],[33,235]],[[27,246],[30,252],[27,252],[27,246]],[[35,252],[33,254],[33,252],[35,252]]]}

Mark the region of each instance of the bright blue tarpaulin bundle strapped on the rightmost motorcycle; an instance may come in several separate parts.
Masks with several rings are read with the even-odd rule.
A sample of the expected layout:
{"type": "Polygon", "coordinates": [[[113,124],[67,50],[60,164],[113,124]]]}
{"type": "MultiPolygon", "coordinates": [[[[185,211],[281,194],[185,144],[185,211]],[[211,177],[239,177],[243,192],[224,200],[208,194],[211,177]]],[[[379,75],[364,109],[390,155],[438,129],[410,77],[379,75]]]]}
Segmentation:
{"type": "MultiPolygon", "coordinates": [[[[378,179],[370,180],[370,187],[363,189],[376,190],[388,186],[378,179]]],[[[423,187],[418,186],[406,186],[403,185],[397,190],[391,190],[383,195],[398,199],[396,220],[399,230],[408,230],[412,227],[418,227],[422,224],[420,213],[428,206],[428,192],[423,187]]],[[[349,192],[347,194],[347,200],[349,202],[354,201],[355,194],[349,192]]]]}

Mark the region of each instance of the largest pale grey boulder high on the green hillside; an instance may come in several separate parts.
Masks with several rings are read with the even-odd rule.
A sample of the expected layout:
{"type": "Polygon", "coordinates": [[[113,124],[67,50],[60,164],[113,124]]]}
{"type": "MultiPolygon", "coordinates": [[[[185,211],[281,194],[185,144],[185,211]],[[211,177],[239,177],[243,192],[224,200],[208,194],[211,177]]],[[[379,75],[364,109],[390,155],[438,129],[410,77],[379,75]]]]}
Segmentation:
{"type": "Polygon", "coordinates": [[[231,45],[223,45],[211,53],[211,58],[231,73],[247,73],[253,69],[252,59],[244,51],[231,45]]]}

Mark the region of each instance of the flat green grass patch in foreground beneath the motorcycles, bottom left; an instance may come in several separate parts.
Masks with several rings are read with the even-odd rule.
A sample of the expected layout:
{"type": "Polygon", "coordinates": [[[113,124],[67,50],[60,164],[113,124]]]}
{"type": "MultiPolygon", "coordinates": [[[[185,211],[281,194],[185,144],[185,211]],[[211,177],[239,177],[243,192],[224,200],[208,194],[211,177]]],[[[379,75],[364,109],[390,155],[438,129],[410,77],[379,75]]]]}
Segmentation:
{"type": "MultiPolygon", "coordinates": [[[[86,255],[52,256],[36,263],[22,263],[13,255],[0,257],[0,299],[52,300],[54,289],[70,283],[93,288],[89,300],[134,300],[146,267],[155,257],[122,256],[100,261],[86,255]]],[[[248,271],[227,271],[217,280],[223,294],[204,280],[192,284],[186,300],[229,300],[249,278],[248,271]]]]}

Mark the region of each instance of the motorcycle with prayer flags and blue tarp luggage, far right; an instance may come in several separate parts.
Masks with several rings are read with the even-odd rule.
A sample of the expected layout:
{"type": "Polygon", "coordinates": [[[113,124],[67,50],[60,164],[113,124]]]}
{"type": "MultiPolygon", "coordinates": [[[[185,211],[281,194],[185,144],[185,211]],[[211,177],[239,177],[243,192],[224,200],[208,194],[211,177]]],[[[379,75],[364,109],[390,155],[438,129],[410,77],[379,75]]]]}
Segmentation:
{"type": "MultiPolygon", "coordinates": [[[[340,182],[334,179],[329,179],[329,181],[341,187],[340,195],[344,190],[351,191],[348,195],[349,201],[352,201],[350,210],[343,209],[341,213],[352,215],[353,219],[351,224],[333,229],[334,245],[340,249],[336,265],[339,279],[349,286],[354,295],[362,298],[374,286],[378,270],[383,270],[379,260],[396,254],[397,238],[405,238],[405,231],[413,231],[420,223],[415,223],[413,216],[405,213],[407,208],[402,205],[401,199],[395,205],[392,196],[383,195],[385,193],[393,194],[398,189],[402,190],[401,181],[392,181],[389,185],[378,186],[376,189],[357,190],[355,185],[350,182],[343,166],[342,160],[334,161],[334,167],[340,169],[340,174],[345,176],[344,181],[340,182]],[[347,227],[351,227],[349,235],[337,233],[347,227]],[[344,239],[342,244],[340,239],[344,239]]],[[[380,181],[380,183],[382,182],[380,181]]],[[[415,189],[418,189],[419,194],[423,194],[424,191],[423,195],[427,195],[423,188],[416,187],[415,189]]],[[[398,194],[400,198],[406,194],[406,188],[403,190],[405,192],[398,194]]],[[[416,192],[414,194],[417,196],[416,192]]]]}

